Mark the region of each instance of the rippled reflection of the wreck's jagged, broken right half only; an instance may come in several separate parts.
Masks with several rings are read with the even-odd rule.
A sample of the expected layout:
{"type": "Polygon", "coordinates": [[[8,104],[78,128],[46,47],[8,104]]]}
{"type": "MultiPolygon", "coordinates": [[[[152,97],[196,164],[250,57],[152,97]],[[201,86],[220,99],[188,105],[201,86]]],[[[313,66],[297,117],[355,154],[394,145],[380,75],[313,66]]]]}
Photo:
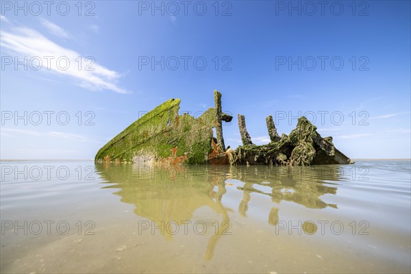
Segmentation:
{"type": "Polygon", "coordinates": [[[230,177],[244,182],[238,187],[244,192],[239,212],[245,216],[250,195],[253,192],[268,195],[275,203],[292,201],[306,208],[337,208],[325,203],[321,196],[335,195],[336,181],[344,178],[343,169],[334,166],[234,166],[230,177]],[[324,183],[327,184],[324,184],[324,183]],[[261,187],[263,189],[261,189],[261,187]],[[269,190],[269,191],[267,191],[269,190]]]}

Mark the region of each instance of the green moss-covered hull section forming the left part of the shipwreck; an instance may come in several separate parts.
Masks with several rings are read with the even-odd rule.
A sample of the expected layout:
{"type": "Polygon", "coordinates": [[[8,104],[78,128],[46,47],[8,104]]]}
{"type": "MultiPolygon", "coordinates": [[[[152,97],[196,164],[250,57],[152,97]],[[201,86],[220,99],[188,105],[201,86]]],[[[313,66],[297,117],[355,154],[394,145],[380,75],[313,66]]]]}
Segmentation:
{"type": "Polygon", "coordinates": [[[179,99],[170,99],[142,116],[104,145],[95,160],[207,163],[212,151],[212,128],[219,126],[216,109],[209,108],[195,119],[188,114],[180,116],[179,103],[179,99]]]}

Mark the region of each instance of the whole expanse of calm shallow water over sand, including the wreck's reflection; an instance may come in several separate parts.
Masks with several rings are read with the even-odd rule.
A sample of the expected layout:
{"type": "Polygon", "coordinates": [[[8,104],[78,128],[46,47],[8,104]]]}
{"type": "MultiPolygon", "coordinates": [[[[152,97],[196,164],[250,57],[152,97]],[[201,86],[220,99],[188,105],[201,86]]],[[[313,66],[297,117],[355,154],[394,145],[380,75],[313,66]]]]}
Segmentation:
{"type": "Polygon", "coordinates": [[[1,162],[1,273],[410,273],[407,161],[1,162]]]}

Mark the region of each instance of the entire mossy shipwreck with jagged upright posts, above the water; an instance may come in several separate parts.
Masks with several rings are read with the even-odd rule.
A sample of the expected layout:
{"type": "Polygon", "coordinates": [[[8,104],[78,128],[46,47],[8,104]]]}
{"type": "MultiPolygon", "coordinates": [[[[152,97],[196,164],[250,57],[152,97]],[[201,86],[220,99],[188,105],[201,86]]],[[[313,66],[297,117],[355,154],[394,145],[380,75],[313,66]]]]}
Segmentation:
{"type": "Polygon", "coordinates": [[[129,125],[105,144],[96,162],[140,164],[352,164],[338,151],[332,137],[321,137],[306,117],[299,118],[290,134],[277,134],[273,117],[266,117],[270,140],[255,145],[247,132],[245,116],[238,114],[242,145],[225,148],[223,122],[233,117],[221,109],[221,93],[214,90],[214,108],[198,118],[179,115],[180,99],[169,99],[129,125]],[[215,129],[216,136],[213,136],[215,129]]]}

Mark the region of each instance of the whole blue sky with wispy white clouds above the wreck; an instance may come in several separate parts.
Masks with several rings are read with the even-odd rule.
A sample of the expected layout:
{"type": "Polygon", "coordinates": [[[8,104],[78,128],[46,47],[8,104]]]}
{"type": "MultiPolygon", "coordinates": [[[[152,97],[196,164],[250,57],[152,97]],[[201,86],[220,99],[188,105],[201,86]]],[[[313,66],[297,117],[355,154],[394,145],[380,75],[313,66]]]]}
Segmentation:
{"type": "Polygon", "coordinates": [[[91,159],[167,99],[213,107],[214,89],[226,145],[238,113],[257,144],[266,116],[288,134],[307,114],[351,158],[411,158],[410,1],[38,3],[1,1],[1,159],[91,159]]]}

